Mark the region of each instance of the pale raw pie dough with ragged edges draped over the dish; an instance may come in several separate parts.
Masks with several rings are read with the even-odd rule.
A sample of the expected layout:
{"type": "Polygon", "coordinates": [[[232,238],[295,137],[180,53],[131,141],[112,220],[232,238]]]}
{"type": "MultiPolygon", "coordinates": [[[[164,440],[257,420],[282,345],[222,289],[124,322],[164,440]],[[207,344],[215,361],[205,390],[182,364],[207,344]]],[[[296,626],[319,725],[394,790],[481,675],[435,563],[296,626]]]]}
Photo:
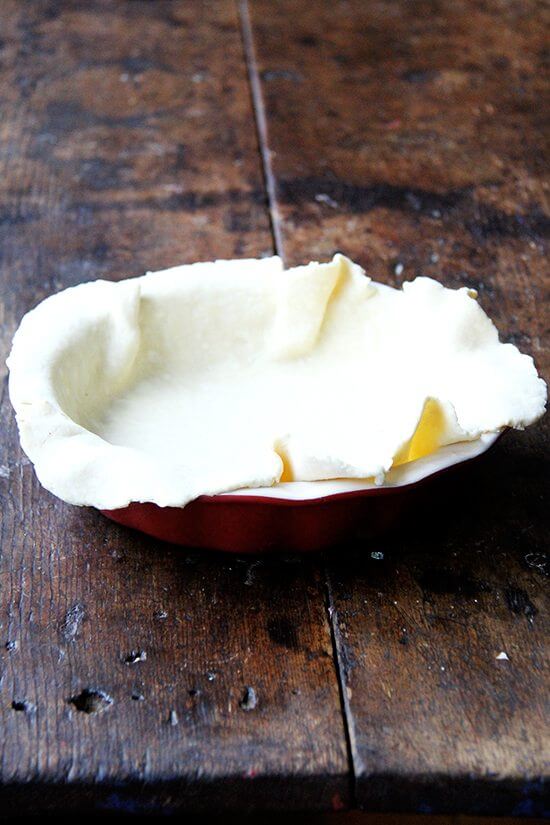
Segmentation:
{"type": "Polygon", "coordinates": [[[72,504],[183,506],[374,478],[544,411],[532,358],[468,289],[373,283],[342,255],[179,266],[67,289],[8,360],[23,449],[72,504]]]}

